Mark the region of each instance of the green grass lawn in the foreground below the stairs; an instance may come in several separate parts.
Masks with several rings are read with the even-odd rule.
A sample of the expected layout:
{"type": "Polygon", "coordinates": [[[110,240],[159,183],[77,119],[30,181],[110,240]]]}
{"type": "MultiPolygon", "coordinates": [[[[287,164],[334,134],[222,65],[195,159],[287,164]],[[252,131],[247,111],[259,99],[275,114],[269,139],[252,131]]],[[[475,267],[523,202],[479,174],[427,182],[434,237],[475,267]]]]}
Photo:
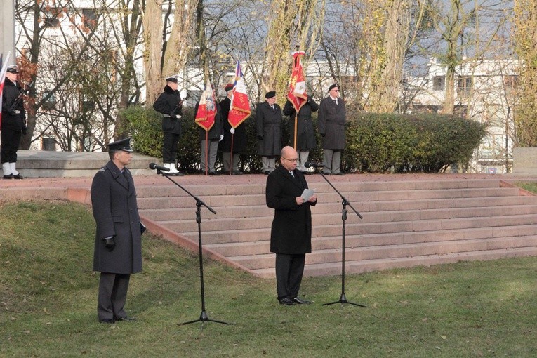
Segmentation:
{"type": "Polygon", "coordinates": [[[131,277],[134,323],[99,324],[86,206],[0,205],[0,357],[536,357],[537,260],[517,258],[303,281],[281,306],[274,279],[206,261],[144,234],[131,277]]]}

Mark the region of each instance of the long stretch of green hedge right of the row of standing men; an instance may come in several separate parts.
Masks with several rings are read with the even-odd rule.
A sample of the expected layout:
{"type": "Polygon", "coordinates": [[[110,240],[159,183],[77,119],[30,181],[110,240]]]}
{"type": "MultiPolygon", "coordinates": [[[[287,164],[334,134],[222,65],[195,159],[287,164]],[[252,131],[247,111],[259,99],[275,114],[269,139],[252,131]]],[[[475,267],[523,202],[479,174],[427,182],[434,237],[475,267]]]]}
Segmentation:
{"type": "Polygon", "coordinates": [[[347,119],[345,171],[437,173],[468,164],[485,135],[476,121],[438,114],[359,114],[347,119]]]}

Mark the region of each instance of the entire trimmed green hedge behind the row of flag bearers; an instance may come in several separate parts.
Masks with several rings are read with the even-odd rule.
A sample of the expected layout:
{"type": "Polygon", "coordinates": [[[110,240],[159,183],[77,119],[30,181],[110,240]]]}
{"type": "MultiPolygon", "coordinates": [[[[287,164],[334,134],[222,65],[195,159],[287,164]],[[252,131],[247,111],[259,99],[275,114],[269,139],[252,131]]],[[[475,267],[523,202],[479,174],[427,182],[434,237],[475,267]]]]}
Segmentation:
{"type": "MultiPolygon", "coordinates": [[[[152,108],[131,106],[119,114],[126,121],[137,152],[161,158],[161,117],[152,108]]],[[[248,147],[241,155],[241,171],[259,173],[256,154],[255,112],[246,119],[248,147]]],[[[183,110],[183,135],[178,145],[178,163],[183,171],[198,171],[200,157],[199,127],[191,108],[183,110]]],[[[313,118],[317,124],[317,117],[313,118]]],[[[451,164],[468,164],[485,135],[486,127],[476,121],[438,114],[347,114],[347,146],[342,156],[345,172],[438,173],[451,164]]],[[[282,144],[289,145],[289,119],[281,128],[282,144]]],[[[310,160],[321,161],[321,136],[310,160]]],[[[218,153],[217,167],[221,167],[218,153]]]]}

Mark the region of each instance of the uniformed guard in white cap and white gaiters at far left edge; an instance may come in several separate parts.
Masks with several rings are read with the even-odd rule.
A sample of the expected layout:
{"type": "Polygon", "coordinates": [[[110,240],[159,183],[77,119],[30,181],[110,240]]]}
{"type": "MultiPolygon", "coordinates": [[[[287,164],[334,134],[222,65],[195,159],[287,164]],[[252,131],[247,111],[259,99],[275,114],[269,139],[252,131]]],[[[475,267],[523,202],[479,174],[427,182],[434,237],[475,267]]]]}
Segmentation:
{"type": "Polygon", "coordinates": [[[17,81],[18,74],[17,65],[8,67],[2,92],[0,162],[4,179],[22,179],[22,175],[17,171],[17,150],[20,137],[26,132],[26,113],[22,103],[22,87],[17,81]]]}

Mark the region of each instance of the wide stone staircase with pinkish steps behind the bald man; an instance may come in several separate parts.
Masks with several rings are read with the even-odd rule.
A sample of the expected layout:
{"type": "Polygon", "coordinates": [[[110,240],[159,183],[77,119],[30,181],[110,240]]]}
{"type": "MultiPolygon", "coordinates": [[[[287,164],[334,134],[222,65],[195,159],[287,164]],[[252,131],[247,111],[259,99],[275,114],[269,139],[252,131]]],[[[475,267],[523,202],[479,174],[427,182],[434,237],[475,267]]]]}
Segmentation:
{"type": "MultiPolygon", "coordinates": [[[[492,260],[537,255],[537,197],[498,179],[337,183],[364,217],[347,206],[345,272],[492,260]]],[[[323,182],[311,183],[319,197],[312,208],[312,253],[305,274],[341,272],[341,199],[323,182]]],[[[269,252],[273,210],[265,183],[196,185],[216,215],[201,209],[204,248],[260,277],[274,277],[269,252]]],[[[197,243],[196,206],[173,186],[138,187],[140,214],[197,243]]]]}

